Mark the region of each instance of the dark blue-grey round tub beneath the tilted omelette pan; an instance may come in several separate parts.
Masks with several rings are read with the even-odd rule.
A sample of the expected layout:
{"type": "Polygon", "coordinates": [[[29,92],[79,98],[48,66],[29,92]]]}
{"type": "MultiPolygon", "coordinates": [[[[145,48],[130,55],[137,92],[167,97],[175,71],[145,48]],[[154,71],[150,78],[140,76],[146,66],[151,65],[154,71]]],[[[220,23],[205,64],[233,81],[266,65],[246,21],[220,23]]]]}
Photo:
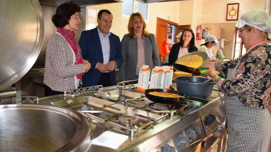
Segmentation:
{"type": "Polygon", "coordinates": [[[185,96],[206,99],[212,94],[216,82],[209,81],[207,78],[194,76],[178,76],[174,79],[177,90],[183,92],[185,96]]]}

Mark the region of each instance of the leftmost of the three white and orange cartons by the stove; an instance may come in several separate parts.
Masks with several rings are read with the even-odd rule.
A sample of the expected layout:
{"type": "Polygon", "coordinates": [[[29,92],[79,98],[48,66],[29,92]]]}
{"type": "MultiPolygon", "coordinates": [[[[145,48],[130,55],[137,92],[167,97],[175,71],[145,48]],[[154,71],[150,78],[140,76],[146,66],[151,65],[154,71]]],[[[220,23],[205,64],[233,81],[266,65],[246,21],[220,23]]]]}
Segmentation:
{"type": "Polygon", "coordinates": [[[138,84],[137,90],[145,91],[149,87],[149,80],[150,80],[151,69],[148,65],[143,65],[139,69],[139,76],[138,76],[138,84]]]}

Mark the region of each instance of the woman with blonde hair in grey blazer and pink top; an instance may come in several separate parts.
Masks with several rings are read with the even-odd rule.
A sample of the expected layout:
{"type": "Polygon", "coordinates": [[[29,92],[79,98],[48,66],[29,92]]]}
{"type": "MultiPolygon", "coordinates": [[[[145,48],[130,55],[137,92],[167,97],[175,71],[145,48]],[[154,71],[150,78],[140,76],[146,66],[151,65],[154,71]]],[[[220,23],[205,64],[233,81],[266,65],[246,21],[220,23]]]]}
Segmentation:
{"type": "Polygon", "coordinates": [[[146,22],[140,13],[132,13],[128,22],[128,34],[121,40],[123,63],[119,67],[120,81],[138,79],[139,69],[160,66],[155,35],[146,31],[146,22]]]}

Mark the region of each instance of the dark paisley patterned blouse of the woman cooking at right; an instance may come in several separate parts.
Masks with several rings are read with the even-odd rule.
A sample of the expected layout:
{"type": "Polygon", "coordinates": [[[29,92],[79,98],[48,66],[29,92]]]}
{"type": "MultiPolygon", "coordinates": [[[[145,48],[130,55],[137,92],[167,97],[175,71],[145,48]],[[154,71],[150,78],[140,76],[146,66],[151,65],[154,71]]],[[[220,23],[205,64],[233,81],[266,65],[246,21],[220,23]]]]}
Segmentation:
{"type": "Polygon", "coordinates": [[[237,68],[229,80],[219,78],[217,86],[227,96],[237,95],[240,102],[253,108],[271,106],[271,46],[256,46],[235,60],[215,62],[218,72],[237,68]],[[237,66],[237,67],[236,67],[237,66]]]}

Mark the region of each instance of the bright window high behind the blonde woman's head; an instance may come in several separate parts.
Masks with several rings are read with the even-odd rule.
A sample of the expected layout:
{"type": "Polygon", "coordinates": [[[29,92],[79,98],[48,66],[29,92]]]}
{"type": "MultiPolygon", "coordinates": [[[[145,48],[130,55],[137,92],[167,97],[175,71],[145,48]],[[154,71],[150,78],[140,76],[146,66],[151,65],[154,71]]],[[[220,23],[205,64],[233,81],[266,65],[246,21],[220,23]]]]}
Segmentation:
{"type": "Polygon", "coordinates": [[[122,3],[123,17],[129,18],[132,13],[139,12],[144,20],[148,20],[148,4],[141,3],[135,0],[125,0],[122,3]]]}

